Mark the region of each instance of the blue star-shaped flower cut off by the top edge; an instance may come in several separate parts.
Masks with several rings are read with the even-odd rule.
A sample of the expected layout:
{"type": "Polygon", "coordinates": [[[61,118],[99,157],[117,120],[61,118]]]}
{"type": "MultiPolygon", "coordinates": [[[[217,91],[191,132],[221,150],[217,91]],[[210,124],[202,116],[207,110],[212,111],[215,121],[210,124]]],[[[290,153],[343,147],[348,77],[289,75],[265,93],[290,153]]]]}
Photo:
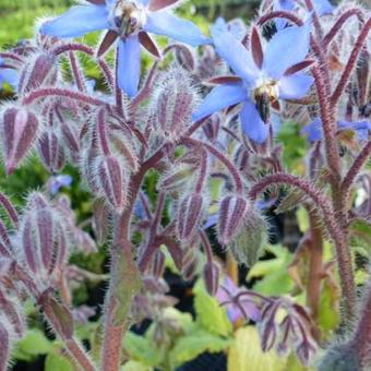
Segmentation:
{"type": "Polygon", "coordinates": [[[93,31],[108,29],[98,55],[119,38],[118,84],[132,97],[140,81],[140,45],[159,56],[148,33],[192,46],[210,43],[192,22],[181,20],[165,9],[177,1],[88,0],[89,4],[72,7],[61,16],[46,22],[40,32],[57,37],[80,37],[93,31]]]}

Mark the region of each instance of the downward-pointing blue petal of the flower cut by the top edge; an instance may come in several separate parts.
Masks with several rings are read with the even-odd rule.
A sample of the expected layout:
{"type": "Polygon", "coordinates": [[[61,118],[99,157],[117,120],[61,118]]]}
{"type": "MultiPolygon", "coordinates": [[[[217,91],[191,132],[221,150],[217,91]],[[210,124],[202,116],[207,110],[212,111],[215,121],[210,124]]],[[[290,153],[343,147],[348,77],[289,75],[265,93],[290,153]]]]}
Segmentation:
{"type": "Polygon", "coordinates": [[[137,36],[119,41],[118,83],[130,97],[137,92],[141,74],[141,45],[137,36]]]}

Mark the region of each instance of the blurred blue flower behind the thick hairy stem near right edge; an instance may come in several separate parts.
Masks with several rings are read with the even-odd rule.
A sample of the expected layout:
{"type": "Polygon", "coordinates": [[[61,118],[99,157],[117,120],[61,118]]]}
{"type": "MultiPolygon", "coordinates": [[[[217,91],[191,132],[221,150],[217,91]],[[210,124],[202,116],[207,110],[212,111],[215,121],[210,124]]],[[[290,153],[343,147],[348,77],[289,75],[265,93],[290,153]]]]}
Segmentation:
{"type": "MultiPolygon", "coordinates": [[[[359,141],[367,141],[369,131],[371,131],[371,123],[368,121],[349,122],[340,120],[337,122],[338,131],[351,130],[356,133],[359,141]]],[[[301,131],[302,134],[308,135],[310,142],[323,140],[323,127],[320,118],[314,119],[301,131]]]]}

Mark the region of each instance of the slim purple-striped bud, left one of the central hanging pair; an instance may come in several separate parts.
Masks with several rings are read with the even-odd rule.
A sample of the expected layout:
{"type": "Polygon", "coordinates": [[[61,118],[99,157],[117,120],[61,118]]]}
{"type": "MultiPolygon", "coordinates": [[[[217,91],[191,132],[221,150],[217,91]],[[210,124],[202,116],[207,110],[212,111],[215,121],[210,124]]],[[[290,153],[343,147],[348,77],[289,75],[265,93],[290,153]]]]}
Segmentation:
{"type": "Polygon", "coordinates": [[[196,231],[204,211],[204,200],[200,193],[187,195],[179,205],[177,232],[181,241],[189,240],[196,231]]]}

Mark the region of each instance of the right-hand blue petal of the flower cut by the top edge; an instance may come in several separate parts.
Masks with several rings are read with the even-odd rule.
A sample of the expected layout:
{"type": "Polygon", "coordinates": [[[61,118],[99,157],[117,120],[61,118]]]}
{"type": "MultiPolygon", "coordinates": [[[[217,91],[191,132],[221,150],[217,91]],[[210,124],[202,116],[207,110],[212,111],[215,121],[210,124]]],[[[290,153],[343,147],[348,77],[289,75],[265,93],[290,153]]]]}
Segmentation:
{"type": "Polygon", "coordinates": [[[194,23],[179,19],[168,11],[147,12],[147,21],[143,28],[192,46],[211,44],[194,23]]]}

